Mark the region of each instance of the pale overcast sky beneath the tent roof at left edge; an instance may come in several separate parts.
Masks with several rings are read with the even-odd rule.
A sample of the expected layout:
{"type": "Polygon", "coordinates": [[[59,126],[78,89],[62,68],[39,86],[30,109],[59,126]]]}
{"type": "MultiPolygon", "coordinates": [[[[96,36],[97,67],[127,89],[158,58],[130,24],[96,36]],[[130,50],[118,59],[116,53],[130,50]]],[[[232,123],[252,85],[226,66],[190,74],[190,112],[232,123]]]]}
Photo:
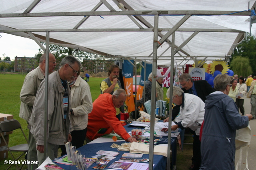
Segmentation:
{"type": "Polygon", "coordinates": [[[0,33],[0,57],[3,59],[3,54],[10,57],[11,60],[18,57],[34,57],[39,52],[39,46],[34,40],[14,36],[11,34],[0,33]]]}

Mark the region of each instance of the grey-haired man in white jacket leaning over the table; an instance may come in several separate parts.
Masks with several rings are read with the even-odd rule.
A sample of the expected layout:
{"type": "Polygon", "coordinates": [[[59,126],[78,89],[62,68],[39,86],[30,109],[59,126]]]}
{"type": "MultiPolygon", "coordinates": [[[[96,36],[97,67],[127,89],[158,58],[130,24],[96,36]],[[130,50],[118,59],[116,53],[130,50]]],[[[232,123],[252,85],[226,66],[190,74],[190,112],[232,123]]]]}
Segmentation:
{"type": "MultiPolygon", "coordinates": [[[[172,102],[180,106],[180,114],[175,119],[176,125],[171,127],[172,130],[177,128],[190,128],[193,136],[193,158],[194,166],[192,170],[199,170],[201,153],[199,140],[201,124],[204,120],[204,102],[198,96],[184,93],[179,87],[173,86],[172,102]]],[[[168,128],[162,131],[167,132],[168,128]]]]}

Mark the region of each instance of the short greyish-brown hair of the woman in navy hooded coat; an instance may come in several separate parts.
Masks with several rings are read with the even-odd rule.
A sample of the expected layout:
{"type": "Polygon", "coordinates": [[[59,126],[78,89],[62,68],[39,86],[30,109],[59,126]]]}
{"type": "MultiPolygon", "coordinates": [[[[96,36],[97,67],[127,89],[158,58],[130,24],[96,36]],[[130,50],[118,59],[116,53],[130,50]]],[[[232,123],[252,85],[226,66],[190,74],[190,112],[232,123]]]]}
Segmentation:
{"type": "Polygon", "coordinates": [[[224,92],[228,84],[230,84],[231,80],[232,80],[232,77],[228,76],[227,74],[218,74],[214,78],[215,90],[224,92]]]}

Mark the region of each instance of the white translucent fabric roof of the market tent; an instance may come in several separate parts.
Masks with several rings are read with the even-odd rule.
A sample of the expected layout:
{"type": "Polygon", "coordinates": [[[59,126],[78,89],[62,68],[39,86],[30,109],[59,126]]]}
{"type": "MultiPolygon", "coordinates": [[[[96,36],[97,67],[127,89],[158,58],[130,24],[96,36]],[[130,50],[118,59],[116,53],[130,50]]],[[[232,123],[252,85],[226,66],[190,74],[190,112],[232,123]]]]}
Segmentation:
{"type": "MultiPolygon", "coordinates": [[[[174,14],[160,12],[158,28],[164,31],[158,35],[164,36],[168,30],[176,28],[184,19],[188,11],[195,11],[194,15],[184,19],[184,23],[176,28],[175,45],[178,48],[194,32],[196,35],[175,54],[179,65],[193,64],[196,60],[224,59],[230,55],[233,44],[239,43],[244,36],[239,32],[250,32],[248,15],[201,15],[210,11],[222,14],[222,11],[248,11],[248,0],[41,0],[32,8],[30,14],[50,14],[50,16],[36,17],[6,17],[4,14],[21,14],[33,0],[2,0],[0,2],[0,32],[6,30],[30,30],[38,40],[45,41],[46,32],[51,30],[50,42],[79,48],[80,50],[103,54],[107,56],[137,57],[138,60],[152,59],[153,35],[147,31],[110,31],[110,29],[148,29],[154,28],[154,15],[145,11],[169,11],[174,14]],[[104,2],[104,3],[103,3],[104,2]],[[122,6],[125,11],[138,11],[138,15],[104,15],[104,12],[120,12],[122,6]],[[90,12],[96,11],[100,15],[92,16],[54,16],[59,12],[90,12]],[[144,15],[140,15],[144,11],[144,15]],[[180,14],[175,14],[180,13],[180,14]],[[74,29],[83,19],[87,18],[77,30],[85,29],[88,32],[70,32],[65,29],[74,29]],[[132,20],[138,22],[138,25],[132,20]],[[56,31],[56,29],[61,31],[56,31]],[[105,31],[98,31],[104,29],[105,31]],[[184,30],[189,31],[184,31],[184,30]],[[222,30],[222,32],[206,32],[208,30],[222,30]],[[34,31],[33,31],[34,30],[34,31]],[[96,30],[96,31],[93,31],[96,30]],[[231,30],[229,32],[229,30],[231,30]],[[232,32],[235,31],[235,32],[232,32]],[[189,56],[192,56],[189,57],[189,56]],[[146,58],[147,57],[147,58],[146,58]],[[188,60],[192,59],[192,60],[188,60]]],[[[249,9],[255,1],[250,0],[249,9]]],[[[124,12],[125,12],[124,11],[124,12]]],[[[25,12],[26,13],[26,12],[25,12]]],[[[76,13],[77,14],[77,13],[76,13]]],[[[8,32],[10,34],[14,34],[8,32]]],[[[256,34],[256,26],[252,24],[252,34],[256,34]]],[[[15,35],[32,38],[24,32],[15,35]]],[[[158,36],[161,40],[162,36],[158,36]]],[[[158,48],[158,65],[169,65],[171,55],[171,36],[169,44],[164,41],[158,48]]]]}

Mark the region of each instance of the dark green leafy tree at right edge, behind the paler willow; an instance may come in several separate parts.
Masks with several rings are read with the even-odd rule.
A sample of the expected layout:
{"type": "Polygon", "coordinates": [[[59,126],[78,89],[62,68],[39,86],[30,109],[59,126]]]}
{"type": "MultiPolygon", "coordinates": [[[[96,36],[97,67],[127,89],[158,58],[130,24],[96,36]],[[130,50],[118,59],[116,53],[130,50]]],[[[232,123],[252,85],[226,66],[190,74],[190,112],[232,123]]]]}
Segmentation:
{"type": "MultiPolygon", "coordinates": [[[[253,36],[248,35],[247,40],[243,40],[237,46],[237,48],[238,52],[234,50],[234,54],[232,55],[232,58],[230,60],[230,65],[232,64],[236,56],[240,56],[241,58],[248,58],[249,65],[251,66],[252,71],[248,72],[248,74],[246,75],[243,74],[243,76],[249,76],[252,73],[256,74],[256,40],[253,38],[253,36]]],[[[232,69],[234,69],[234,67],[232,69]]],[[[234,73],[237,74],[235,71],[234,73]]]]}

